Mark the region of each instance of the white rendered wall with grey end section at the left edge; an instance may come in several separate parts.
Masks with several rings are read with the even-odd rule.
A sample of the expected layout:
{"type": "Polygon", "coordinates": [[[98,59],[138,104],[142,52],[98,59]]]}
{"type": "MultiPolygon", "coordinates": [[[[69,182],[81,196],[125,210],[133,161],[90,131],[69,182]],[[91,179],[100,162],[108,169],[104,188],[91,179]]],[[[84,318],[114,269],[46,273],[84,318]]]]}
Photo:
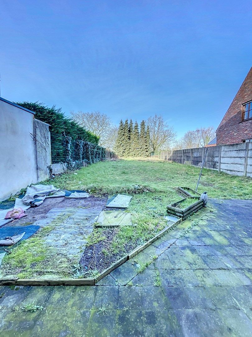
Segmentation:
{"type": "Polygon", "coordinates": [[[50,132],[34,113],[0,98],[0,201],[49,177],[50,132]]]}

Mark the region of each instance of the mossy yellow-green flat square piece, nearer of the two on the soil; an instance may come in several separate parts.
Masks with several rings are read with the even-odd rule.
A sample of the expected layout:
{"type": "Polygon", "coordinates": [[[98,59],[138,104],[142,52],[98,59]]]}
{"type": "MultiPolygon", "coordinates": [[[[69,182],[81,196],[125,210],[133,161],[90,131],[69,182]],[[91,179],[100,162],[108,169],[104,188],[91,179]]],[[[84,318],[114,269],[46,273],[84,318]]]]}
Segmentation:
{"type": "Polygon", "coordinates": [[[97,223],[97,227],[131,226],[131,214],[125,211],[103,211],[97,223]]]}

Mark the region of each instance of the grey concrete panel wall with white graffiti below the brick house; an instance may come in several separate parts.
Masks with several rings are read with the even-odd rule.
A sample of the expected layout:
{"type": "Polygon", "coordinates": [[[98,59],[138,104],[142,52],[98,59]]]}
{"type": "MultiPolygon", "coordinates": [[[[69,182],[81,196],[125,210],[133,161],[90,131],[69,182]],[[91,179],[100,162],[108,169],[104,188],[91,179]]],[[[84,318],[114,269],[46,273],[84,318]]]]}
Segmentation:
{"type": "MultiPolygon", "coordinates": [[[[200,167],[205,153],[205,148],[161,151],[160,159],[200,167]]],[[[211,146],[208,148],[204,167],[252,178],[252,143],[211,146]]]]}

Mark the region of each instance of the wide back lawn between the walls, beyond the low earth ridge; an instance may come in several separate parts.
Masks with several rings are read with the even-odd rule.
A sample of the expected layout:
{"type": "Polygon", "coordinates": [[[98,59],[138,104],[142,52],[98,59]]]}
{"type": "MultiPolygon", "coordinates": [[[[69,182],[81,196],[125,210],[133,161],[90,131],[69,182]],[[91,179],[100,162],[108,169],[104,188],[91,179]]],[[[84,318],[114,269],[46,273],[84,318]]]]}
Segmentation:
{"type": "MultiPolygon", "coordinates": [[[[177,186],[195,190],[200,168],[162,160],[100,161],[45,183],[64,189],[90,189],[102,194],[135,193],[135,185],[170,195],[177,186]],[[74,173],[78,173],[74,175],[74,173]]],[[[215,198],[251,198],[252,180],[203,169],[198,192],[215,198]]],[[[176,200],[173,200],[176,201],[176,200]]]]}

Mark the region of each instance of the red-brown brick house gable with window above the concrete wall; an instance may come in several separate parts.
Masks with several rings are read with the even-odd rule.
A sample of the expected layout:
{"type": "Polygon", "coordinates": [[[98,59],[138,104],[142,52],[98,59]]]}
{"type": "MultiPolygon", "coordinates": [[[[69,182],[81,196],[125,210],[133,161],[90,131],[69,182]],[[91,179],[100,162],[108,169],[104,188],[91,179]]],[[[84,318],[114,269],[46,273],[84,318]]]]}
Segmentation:
{"type": "Polygon", "coordinates": [[[216,130],[217,145],[252,142],[252,67],[216,130]]]}

